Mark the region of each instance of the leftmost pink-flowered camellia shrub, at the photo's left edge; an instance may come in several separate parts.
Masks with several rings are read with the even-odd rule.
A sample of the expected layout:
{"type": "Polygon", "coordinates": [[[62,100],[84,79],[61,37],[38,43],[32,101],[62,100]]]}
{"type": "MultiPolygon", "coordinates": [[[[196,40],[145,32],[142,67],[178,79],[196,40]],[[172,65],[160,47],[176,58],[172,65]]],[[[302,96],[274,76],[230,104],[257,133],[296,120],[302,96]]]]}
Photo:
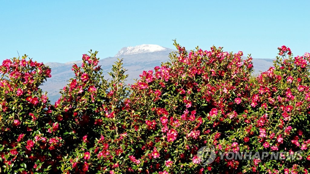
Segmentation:
{"type": "Polygon", "coordinates": [[[38,88],[50,73],[26,55],[0,66],[0,161],[5,173],[47,172],[60,160],[53,147],[63,141],[47,132],[50,104],[38,88]]]}

